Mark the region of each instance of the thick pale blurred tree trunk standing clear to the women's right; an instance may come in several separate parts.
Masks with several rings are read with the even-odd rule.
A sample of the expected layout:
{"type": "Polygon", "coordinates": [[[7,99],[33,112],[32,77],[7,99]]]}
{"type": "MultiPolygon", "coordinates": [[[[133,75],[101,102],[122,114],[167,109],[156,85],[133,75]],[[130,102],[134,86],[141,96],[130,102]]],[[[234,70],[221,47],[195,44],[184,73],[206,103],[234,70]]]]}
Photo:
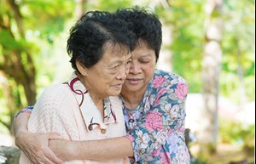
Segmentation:
{"type": "Polygon", "coordinates": [[[203,132],[199,136],[203,147],[215,151],[218,140],[218,78],[221,70],[222,19],[220,17],[222,0],[208,0],[206,5],[206,43],[203,68],[204,117],[201,120],[203,132]]]}

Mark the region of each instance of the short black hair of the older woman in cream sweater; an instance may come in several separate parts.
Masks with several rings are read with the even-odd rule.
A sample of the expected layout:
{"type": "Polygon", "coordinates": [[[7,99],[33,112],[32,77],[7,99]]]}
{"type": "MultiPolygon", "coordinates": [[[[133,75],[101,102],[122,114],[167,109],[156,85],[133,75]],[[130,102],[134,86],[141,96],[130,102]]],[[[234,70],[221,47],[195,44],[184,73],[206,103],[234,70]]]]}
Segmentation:
{"type": "Polygon", "coordinates": [[[131,51],[135,41],[135,34],[124,20],[116,19],[106,11],[89,11],[71,28],[67,53],[71,56],[73,69],[79,71],[76,60],[90,68],[102,59],[106,42],[125,46],[131,51]]]}

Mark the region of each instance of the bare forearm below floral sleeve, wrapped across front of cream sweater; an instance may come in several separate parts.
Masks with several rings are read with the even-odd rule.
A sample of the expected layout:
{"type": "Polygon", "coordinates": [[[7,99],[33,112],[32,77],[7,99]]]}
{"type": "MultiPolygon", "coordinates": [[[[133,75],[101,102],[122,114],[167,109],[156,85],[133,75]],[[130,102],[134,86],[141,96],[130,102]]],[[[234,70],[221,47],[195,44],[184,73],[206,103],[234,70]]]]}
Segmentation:
{"type": "Polygon", "coordinates": [[[131,141],[125,137],[88,141],[51,140],[49,147],[61,160],[97,160],[133,156],[131,141]]]}

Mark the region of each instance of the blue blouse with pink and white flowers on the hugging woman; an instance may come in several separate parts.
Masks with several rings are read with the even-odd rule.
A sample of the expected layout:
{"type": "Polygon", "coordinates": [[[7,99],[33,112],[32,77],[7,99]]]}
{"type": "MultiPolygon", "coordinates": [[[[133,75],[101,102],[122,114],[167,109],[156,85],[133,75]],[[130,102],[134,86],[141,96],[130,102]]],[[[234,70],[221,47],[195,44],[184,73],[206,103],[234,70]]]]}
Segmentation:
{"type": "Polygon", "coordinates": [[[132,163],[190,163],[184,138],[187,94],[182,76],[154,71],[141,104],[124,110],[126,137],[134,150],[132,163]]]}

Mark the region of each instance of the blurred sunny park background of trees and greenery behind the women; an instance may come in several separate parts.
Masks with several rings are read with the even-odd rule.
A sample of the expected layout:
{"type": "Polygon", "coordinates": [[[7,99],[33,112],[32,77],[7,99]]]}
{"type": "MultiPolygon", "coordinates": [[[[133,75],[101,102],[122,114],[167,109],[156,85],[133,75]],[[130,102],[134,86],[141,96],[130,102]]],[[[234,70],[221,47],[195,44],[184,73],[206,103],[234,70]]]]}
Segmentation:
{"type": "Polygon", "coordinates": [[[163,24],[158,67],[189,83],[191,163],[254,163],[253,0],[0,0],[0,146],[18,110],[72,72],[70,27],[87,10],[152,8],[163,24]]]}

